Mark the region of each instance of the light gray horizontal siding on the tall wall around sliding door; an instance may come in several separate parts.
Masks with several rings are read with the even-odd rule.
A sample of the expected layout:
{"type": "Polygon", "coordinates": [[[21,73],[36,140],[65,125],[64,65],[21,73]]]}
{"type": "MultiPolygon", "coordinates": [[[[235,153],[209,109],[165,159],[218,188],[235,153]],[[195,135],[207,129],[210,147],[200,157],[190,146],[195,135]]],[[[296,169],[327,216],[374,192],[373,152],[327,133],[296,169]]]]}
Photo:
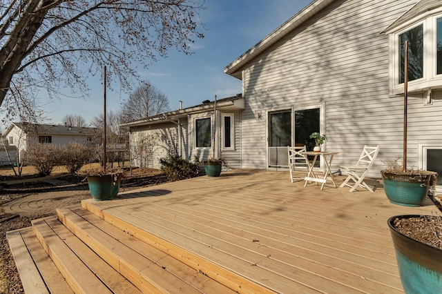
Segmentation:
{"type": "MultiPolygon", "coordinates": [[[[242,167],[267,166],[269,111],[316,104],[324,104],[327,150],[339,152],[333,171],[356,163],[365,144],[381,145],[372,177],[379,177],[382,160],[402,156],[403,98],[388,96],[389,41],[381,32],[416,2],[336,1],[251,61],[242,80],[242,167]]],[[[410,98],[410,163],[422,130],[418,113],[436,112],[439,104],[424,107],[410,98]]]]}

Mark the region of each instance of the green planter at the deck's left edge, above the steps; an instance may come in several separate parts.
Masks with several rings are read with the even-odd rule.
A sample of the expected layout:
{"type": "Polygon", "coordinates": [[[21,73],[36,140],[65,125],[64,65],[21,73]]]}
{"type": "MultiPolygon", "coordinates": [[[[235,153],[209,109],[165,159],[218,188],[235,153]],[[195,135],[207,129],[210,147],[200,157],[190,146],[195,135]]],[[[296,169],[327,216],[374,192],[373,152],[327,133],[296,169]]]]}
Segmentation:
{"type": "Polygon", "coordinates": [[[88,175],[90,195],[96,201],[117,197],[120,182],[119,175],[88,175]]]}

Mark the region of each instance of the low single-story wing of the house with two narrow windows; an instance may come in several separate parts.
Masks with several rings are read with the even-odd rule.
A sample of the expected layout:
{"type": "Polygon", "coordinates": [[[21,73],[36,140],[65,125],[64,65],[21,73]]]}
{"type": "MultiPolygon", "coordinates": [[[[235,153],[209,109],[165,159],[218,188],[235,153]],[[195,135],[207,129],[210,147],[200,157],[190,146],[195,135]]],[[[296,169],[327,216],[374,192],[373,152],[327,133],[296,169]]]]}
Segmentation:
{"type": "Polygon", "coordinates": [[[169,155],[201,161],[214,156],[240,168],[242,110],[244,99],[236,95],[122,124],[129,128],[131,164],[160,168],[160,158],[169,155]]]}

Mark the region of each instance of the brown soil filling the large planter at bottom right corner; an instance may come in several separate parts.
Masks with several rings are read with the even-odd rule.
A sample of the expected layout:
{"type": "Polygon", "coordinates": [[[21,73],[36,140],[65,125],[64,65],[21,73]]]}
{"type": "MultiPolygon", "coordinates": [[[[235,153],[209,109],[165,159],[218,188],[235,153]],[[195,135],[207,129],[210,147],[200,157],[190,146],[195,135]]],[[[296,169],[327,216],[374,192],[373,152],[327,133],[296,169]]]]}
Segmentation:
{"type": "Polygon", "coordinates": [[[442,249],[442,217],[396,218],[394,226],[412,239],[442,249]]]}

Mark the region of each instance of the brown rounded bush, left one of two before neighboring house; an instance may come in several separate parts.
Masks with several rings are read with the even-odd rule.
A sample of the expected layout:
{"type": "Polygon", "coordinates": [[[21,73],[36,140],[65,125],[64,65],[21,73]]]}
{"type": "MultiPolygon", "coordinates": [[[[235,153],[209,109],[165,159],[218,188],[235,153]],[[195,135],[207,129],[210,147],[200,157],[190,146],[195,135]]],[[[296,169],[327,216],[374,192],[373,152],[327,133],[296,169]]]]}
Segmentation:
{"type": "Polygon", "coordinates": [[[60,163],[60,148],[52,144],[32,145],[26,151],[26,159],[39,175],[50,175],[52,168],[60,163]]]}

